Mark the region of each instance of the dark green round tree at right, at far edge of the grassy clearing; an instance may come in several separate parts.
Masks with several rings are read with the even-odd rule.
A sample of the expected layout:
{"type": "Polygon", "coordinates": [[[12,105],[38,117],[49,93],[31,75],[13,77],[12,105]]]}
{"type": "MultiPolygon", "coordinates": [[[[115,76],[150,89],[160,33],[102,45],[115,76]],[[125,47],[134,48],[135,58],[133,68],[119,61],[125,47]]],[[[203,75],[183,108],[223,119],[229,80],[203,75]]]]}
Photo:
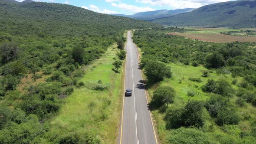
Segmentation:
{"type": "Polygon", "coordinates": [[[207,67],[220,68],[224,65],[223,56],[220,53],[214,52],[206,58],[207,67]]]}

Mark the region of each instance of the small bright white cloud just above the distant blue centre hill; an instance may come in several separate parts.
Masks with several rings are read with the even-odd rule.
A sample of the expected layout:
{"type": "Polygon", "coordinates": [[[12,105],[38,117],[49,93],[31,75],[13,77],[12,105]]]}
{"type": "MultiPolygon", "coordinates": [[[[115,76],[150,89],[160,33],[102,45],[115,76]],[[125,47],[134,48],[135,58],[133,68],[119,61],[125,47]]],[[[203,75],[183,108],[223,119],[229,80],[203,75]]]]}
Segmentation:
{"type": "Polygon", "coordinates": [[[150,7],[136,7],[136,6],[133,6],[133,5],[129,5],[129,4],[125,4],[125,3],[119,3],[119,4],[116,4],[116,3],[111,3],[111,5],[113,7],[118,7],[122,10],[127,10],[127,11],[132,11],[134,13],[139,13],[139,12],[145,12],[145,11],[153,11],[155,9],[152,9],[150,7]]]}

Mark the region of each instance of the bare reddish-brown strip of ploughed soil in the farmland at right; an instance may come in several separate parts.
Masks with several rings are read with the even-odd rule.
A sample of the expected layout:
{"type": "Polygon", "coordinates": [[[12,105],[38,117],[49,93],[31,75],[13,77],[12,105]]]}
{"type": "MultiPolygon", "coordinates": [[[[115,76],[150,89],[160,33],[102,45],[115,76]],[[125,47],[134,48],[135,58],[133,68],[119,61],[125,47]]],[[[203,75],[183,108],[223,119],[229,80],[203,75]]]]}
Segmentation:
{"type": "MultiPolygon", "coordinates": [[[[209,28],[208,28],[209,29],[209,28]]],[[[190,39],[197,39],[215,43],[230,42],[256,42],[256,37],[251,36],[229,36],[223,34],[192,34],[192,33],[167,33],[169,35],[185,36],[190,39]]]]}

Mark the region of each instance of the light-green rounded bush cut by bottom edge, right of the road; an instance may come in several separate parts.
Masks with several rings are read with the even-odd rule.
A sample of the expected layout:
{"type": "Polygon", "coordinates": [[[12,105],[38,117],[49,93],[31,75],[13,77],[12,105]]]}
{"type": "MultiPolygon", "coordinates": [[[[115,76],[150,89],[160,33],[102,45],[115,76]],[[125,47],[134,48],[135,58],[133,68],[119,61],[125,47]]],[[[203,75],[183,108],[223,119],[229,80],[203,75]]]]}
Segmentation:
{"type": "Polygon", "coordinates": [[[179,128],[171,130],[167,136],[167,144],[214,144],[215,140],[195,128],[179,128]]]}

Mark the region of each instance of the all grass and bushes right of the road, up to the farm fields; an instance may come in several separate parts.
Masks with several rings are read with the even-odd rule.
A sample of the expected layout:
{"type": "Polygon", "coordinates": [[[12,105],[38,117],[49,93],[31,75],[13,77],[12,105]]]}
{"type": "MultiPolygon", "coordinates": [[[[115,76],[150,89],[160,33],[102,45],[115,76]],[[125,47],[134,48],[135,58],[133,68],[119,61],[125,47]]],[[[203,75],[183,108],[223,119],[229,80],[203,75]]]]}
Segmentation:
{"type": "Polygon", "coordinates": [[[256,43],[210,43],[166,35],[172,29],[144,29],[133,35],[141,49],[160,141],[254,144],[256,43]],[[152,62],[167,67],[171,76],[151,81],[145,68],[152,62]]]}

